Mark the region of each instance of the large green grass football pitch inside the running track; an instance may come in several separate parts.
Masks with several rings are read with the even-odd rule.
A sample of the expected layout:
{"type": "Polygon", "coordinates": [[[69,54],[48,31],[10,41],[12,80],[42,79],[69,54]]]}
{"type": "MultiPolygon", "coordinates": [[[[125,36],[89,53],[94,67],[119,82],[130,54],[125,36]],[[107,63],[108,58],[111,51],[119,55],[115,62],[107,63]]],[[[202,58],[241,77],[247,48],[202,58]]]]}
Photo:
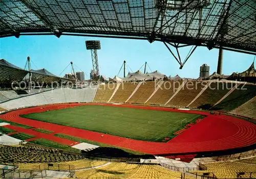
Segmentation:
{"type": "Polygon", "coordinates": [[[22,117],[145,141],[172,138],[183,128],[181,120],[189,123],[202,118],[198,114],[91,105],[22,117]]]}

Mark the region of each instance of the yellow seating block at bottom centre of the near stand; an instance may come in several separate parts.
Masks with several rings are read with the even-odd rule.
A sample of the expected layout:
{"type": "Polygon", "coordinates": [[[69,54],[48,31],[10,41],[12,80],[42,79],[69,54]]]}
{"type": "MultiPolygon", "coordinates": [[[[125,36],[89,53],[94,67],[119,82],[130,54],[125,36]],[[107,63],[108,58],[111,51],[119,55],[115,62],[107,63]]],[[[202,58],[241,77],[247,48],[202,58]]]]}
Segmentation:
{"type": "Polygon", "coordinates": [[[77,178],[118,177],[119,178],[180,178],[181,173],[167,170],[159,165],[111,163],[100,168],[76,171],[77,178]]]}

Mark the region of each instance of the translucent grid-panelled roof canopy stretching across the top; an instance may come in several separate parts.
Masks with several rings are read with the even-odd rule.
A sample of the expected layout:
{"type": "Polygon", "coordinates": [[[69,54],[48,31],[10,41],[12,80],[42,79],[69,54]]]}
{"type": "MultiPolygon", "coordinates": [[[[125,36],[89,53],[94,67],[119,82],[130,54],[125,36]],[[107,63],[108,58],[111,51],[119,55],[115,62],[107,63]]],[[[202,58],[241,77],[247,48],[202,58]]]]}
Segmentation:
{"type": "Polygon", "coordinates": [[[256,54],[255,0],[2,0],[0,37],[146,39],[256,54]]]}

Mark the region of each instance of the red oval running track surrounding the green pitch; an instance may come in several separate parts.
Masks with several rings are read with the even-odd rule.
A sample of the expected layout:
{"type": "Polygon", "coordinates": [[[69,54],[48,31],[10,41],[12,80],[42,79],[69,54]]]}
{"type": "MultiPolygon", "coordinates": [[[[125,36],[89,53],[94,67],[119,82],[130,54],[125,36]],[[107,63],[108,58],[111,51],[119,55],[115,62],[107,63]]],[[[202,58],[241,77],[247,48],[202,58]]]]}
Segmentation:
{"type": "MultiPolygon", "coordinates": [[[[35,128],[42,128],[56,133],[67,134],[76,136],[92,141],[111,144],[127,149],[141,151],[146,154],[152,155],[172,155],[172,154],[186,154],[191,152],[205,152],[205,151],[218,151],[233,148],[240,148],[249,146],[256,143],[256,125],[243,119],[239,119],[226,115],[214,115],[208,112],[201,111],[184,111],[162,107],[148,107],[148,106],[133,106],[133,105],[112,105],[112,104],[58,104],[33,107],[27,109],[20,109],[11,111],[6,114],[0,115],[8,121],[18,122],[25,125],[30,125],[35,128]],[[139,108],[148,110],[161,110],[161,111],[175,111],[184,113],[196,113],[206,115],[201,122],[189,127],[182,134],[168,141],[167,143],[161,142],[148,142],[134,139],[126,139],[118,136],[106,135],[101,137],[102,133],[76,129],[74,127],[63,126],[59,124],[53,124],[48,122],[42,122],[32,119],[26,119],[19,117],[20,114],[29,114],[43,112],[47,110],[56,110],[62,108],[70,108],[81,105],[105,105],[125,108],[139,108]]],[[[9,126],[13,127],[14,126],[9,126]]],[[[15,129],[14,129],[15,130],[15,129]]],[[[17,131],[22,132],[20,129],[17,131]]],[[[23,132],[32,134],[32,130],[24,130],[23,132]]],[[[56,141],[59,143],[65,143],[72,145],[74,141],[63,140],[53,134],[34,133],[36,137],[46,138],[48,140],[56,141]]]]}

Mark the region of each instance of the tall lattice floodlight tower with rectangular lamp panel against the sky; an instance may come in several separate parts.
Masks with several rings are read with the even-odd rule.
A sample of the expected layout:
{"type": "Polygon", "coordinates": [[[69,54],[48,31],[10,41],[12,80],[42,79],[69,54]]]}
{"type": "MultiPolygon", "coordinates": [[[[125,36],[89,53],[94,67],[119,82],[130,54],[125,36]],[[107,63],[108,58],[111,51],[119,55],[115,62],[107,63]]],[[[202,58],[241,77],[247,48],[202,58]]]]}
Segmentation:
{"type": "Polygon", "coordinates": [[[100,41],[99,40],[87,40],[86,48],[91,50],[93,69],[91,71],[91,79],[96,80],[99,76],[99,64],[98,64],[98,56],[97,49],[100,49],[100,41]]]}

